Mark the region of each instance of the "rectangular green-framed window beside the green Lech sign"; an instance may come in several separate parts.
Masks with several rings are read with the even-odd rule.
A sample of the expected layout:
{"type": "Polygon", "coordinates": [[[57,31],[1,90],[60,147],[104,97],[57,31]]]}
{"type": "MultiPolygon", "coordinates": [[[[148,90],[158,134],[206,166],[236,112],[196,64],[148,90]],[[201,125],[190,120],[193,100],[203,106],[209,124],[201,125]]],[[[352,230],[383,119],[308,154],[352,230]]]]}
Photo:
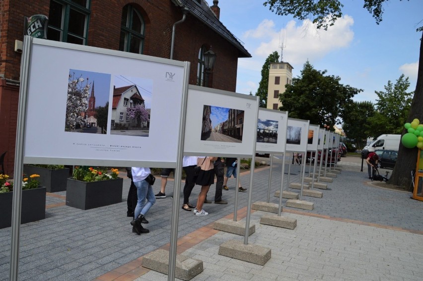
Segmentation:
{"type": "Polygon", "coordinates": [[[89,0],[51,0],[48,39],[86,45],[89,0]]]}

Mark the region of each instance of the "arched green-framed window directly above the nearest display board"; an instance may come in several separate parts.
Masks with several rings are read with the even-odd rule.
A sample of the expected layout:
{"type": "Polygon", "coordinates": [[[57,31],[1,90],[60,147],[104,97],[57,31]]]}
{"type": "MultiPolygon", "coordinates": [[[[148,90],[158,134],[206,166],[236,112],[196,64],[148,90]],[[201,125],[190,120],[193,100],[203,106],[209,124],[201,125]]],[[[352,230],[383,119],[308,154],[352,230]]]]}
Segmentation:
{"type": "Polygon", "coordinates": [[[122,11],[119,50],[142,54],[143,42],[144,20],[141,14],[132,5],[128,4],[122,11]]]}

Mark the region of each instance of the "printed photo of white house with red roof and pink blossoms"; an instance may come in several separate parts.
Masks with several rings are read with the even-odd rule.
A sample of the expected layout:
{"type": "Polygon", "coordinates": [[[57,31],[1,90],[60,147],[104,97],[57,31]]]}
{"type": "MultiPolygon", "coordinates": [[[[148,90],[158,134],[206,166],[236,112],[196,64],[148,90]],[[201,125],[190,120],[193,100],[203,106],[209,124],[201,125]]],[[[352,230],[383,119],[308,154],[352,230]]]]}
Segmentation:
{"type": "Polygon", "coordinates": [[[152,88],[151,79],[114,76],[112,135],[148,137],[152,88]]]}

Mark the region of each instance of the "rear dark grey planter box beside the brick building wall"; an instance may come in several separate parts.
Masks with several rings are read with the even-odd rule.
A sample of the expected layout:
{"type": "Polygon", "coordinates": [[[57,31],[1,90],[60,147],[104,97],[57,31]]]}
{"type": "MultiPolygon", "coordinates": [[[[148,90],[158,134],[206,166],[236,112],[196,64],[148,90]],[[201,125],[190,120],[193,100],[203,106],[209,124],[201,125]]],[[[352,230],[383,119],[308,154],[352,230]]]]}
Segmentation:
{"type": "Polygon", "coordinates": [[[59,192],[66,190],[69,177],[69,169],[46,169],[31,165],[24,165],[23,172],[26,174],[39,174],[40,185],[45,186],[47,192],[59,192]]]}

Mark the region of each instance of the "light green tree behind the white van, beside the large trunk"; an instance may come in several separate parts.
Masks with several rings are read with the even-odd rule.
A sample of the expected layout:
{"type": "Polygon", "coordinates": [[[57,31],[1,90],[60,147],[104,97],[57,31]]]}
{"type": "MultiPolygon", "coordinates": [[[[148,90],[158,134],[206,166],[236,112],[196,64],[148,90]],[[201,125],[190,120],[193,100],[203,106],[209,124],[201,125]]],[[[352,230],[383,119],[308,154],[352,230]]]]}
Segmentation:
{"type": "Polygon", "coordinates": [[[395,85],[388,81],[388,85],[385,86],[386,92],[375,91],[379,100],[376,103],[376,114],[369,118],[371,124],[369,136],[402,133],[413,96],[413,92],[406,92],[408,87],[410,87],[408,77],[404,79],[402,74],[395,85]]]}

